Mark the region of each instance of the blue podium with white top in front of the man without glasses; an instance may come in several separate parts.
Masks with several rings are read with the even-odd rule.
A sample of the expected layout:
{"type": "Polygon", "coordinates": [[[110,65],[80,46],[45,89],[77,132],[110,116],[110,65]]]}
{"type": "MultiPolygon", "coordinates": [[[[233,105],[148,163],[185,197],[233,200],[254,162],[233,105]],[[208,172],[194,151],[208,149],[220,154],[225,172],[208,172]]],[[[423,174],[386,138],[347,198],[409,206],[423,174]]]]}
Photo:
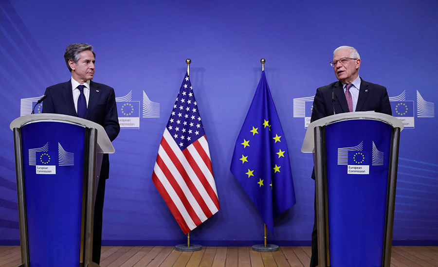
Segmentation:
{"type": "Polygon", "coordinates": [[[20,267],[98,267],[93,263],[94,200],[104,128],[78,117],[33,114],[14,120],[20,267]]]}

